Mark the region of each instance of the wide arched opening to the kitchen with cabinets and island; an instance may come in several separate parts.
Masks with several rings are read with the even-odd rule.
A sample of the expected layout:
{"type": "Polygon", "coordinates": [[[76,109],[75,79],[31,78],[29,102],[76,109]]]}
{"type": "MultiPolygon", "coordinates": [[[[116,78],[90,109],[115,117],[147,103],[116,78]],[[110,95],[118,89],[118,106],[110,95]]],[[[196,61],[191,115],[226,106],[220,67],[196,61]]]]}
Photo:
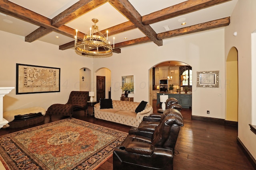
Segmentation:
{"type": "Polygon", "coordinates": [[[150,69],[150,104],[160,106],[160,95],[177,98],[182,108],[192,107],[192,67],[180,61],[165,61],[150,69]],[[185,92],[187,91],[188,92],[185,92]]]}

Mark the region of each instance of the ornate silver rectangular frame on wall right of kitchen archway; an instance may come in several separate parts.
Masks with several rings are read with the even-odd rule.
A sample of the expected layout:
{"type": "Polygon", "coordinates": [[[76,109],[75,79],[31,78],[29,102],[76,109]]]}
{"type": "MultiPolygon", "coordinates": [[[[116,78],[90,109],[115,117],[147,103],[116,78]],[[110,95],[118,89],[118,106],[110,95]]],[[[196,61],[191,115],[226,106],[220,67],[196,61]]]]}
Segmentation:
{"type": "Polygon", "coordinates": [[[197,72],[196,87],[219,87],[219,71],[197,72]]]}

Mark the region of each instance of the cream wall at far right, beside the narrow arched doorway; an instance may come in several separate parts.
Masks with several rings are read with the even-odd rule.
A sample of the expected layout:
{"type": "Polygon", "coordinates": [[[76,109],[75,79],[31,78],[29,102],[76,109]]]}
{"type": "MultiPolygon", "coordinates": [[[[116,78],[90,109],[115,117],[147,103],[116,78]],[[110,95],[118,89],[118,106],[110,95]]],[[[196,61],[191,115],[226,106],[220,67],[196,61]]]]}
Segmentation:
{"type": "MultiPolygon", "coordinates": [[[[256,82],[255,76],[252,76],[252,66],[255,67],[256,63],[251,55],[252,48],[255,49],[251,44],[251,34],[256,30],[255,9],[256,0],[238,0],[231,23],[225,28],[225,57],[232,47],[238,50],[238,138],[254,158],[256,135],[250,131],[249,124],[252,123],[252,114],[256,114],[252,113],[252,97],[255,98],[256,91],[252,93],[251,84],[252,81],[256,82]],[[237,36],[233,35],[235,31],[237,36]]],[[[255,89],[255,84],[253,88],[255,89]]]]}

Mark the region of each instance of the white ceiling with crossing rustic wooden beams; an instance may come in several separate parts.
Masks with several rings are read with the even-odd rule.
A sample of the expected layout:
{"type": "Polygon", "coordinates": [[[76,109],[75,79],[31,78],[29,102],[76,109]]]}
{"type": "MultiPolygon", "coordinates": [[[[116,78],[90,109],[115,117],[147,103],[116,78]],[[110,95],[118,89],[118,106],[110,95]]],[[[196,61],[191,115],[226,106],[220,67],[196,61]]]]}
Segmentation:
{"type": "Polygon", "coordinates": [[[115,37],[114,52],[121,53],[122,47],[146,42],[162,46],[166,38],[229,25],[237,1],[0,0],[0,12],[7,15],[0,15],[0,30],[65,50],[73,48],[75,30],[82,40],[96,18],[101,32],[115,37]]]}

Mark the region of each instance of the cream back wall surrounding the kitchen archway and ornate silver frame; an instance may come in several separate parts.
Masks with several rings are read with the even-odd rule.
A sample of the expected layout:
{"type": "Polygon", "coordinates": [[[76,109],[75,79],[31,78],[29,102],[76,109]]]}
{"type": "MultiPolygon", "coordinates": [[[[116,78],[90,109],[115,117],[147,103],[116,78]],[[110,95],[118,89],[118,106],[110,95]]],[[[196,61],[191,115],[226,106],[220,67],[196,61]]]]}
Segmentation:
{"type": "Polygon", "coordinates": [[[166,39],[163,44],[161,47],[154,43],[126,47],[120,54],[94,59],[94,70],[101,67],[111,70],[112,99],[120,100],[121,77],[134,75],[134,94],[129,96],[134,97],[135,102],[148,101],[150,68],[163,61],[182,61],[192,66],[193,71],[192,114],[224,119],[224,29],[166,39]],[[220,88],[196,88],[196,72],[208,70],[220,70],[220,88]],[[206,114],[207,110],[210,115],[206,114]]]}

